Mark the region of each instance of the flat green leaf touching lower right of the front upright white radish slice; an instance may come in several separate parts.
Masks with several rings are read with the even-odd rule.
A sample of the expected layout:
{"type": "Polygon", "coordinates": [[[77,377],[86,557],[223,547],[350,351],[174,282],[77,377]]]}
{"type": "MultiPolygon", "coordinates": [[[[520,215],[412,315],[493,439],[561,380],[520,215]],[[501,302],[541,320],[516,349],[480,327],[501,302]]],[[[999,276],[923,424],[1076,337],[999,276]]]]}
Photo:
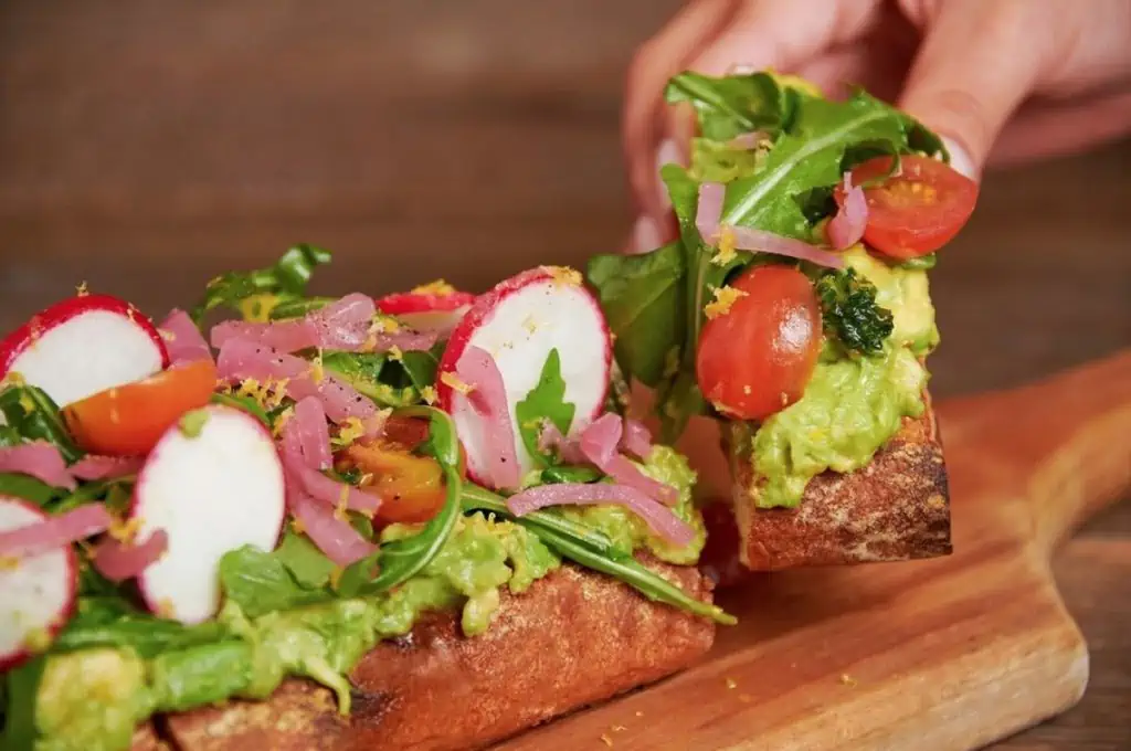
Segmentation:
{"type": "MultiPolygon", "coordinates": [[[[307,581],[316,578],[312,568],[305,562],[296,561],[293,550],[288,551],[287,560],[300,566],[307,581]]],[[[329,580],[329,575],[326,579],[329,580]]],[[[334,596],[321,585],[301,585],[284,563],[283,556],[251,545],[224,554],[219,561],[219,580],[224,595],[239,605],[248,618],[322,602],[334,596]]]]}

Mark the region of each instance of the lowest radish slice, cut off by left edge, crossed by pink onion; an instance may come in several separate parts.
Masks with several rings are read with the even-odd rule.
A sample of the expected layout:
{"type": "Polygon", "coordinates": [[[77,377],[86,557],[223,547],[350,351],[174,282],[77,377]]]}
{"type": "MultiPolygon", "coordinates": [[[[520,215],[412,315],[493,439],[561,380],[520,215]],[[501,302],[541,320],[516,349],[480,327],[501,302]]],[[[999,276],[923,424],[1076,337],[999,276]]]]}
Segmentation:
{"type": "MultiPolygon", "coordinates": [[[[0,495],[0,532],[46,521],[37,508],[0,495]]],[[[0,673],[42,649],[75,608],[78,567],[70,545],[0,566],[0,673]]]]}

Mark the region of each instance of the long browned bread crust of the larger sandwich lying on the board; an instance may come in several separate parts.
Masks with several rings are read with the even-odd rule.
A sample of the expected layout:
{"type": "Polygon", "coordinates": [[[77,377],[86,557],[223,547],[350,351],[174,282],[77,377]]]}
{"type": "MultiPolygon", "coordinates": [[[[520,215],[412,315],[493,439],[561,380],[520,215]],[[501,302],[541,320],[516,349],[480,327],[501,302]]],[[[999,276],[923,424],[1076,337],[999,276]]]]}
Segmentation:
{"type": "MultiPolygon", "coordinates": [[[[650,568],[701,599],[693,567],[650,568]]],[[[464,637],[454,614],[423,619],[351,674],[353,710],[288,680],[267,701],[231,701],[158,718],[183,751],[474,749],[674,673],[705,654],[715,625],[566,564],[523,595],[504,594],[491,628],[464,637]]]]}

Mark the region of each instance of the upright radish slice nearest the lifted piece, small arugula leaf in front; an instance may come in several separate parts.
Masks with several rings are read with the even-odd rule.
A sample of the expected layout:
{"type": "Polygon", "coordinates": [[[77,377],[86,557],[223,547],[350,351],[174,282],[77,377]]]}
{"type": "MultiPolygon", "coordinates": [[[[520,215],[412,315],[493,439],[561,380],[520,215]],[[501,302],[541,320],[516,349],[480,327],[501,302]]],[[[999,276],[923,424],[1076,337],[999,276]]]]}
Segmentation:
{"type": "Polygon", "coordinates": [[[601,413],[608,388],[612,340],[601,305],[570,269],[539,267],[523,271],[476,297],[452,331],[440,359],[437,392],[451,413],[467,452],[468,475],[489,483],[494,465],[483,435],[489,417],[476,412],[460,389],[457,364],[468,347],[478,347],[494,360],[506,388],[515,452],[521,474],[534,466],[521,440],[515,405],[538,382],[552,349],[561,359],[566,400],[575,405],[570,435],[576,435],[601,413]]]}

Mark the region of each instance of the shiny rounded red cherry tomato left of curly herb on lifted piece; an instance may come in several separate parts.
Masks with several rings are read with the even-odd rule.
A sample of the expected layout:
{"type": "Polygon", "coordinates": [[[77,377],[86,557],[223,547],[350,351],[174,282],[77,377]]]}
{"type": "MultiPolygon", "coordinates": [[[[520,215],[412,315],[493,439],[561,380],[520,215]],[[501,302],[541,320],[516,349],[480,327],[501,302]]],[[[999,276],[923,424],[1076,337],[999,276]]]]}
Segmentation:
{"type": "Polygon", "coordinates": [[[745,294],[703,326],[699,388],[728,416],[765,420],[804,392],[821,348],[821,307],[791,266],[756,266],[731,286],[745,294]]]}

